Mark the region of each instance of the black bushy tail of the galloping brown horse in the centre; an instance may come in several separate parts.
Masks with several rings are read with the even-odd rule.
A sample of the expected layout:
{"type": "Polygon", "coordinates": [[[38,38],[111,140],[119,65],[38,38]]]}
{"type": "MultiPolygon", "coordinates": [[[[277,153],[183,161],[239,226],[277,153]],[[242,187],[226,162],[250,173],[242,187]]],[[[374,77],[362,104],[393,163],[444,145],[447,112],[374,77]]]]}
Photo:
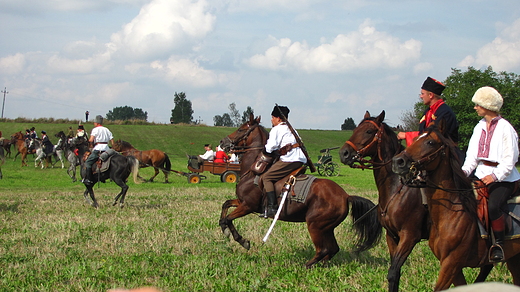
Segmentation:
{"type": "Polygon", "coordinates": [[[354,230],[357,234],[356,251],[364,251],[374,247],[383,232],[383,227],[377,216],[377,206],[369,199],[359,196],[349,196],[352,204],[351,216],[354,219],[354,230]]]}

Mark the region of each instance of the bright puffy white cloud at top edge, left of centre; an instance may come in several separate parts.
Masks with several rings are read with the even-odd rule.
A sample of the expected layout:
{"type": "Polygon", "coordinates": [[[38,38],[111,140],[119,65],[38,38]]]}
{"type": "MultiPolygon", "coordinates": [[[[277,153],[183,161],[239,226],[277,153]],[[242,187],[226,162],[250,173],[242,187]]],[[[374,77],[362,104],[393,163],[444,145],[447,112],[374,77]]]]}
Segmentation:
{"type": "Polygon", "coordinates": [[[114,33],[108,47],[138,59],[154,59],[193,45],[213,30],[216,17],[205,0],[153,0],[114,33]]]}

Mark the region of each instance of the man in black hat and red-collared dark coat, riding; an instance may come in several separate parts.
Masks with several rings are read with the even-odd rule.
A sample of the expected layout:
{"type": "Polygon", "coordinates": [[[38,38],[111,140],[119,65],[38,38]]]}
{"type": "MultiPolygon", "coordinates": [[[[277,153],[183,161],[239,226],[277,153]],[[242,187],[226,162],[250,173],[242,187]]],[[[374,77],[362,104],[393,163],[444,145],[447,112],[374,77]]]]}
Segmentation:
{"type": "Polygon", "coordinates": [[[437,81],[431,77],[426,78],[422,87],[420,97],[425,105],[428,106],[424,112],[421,121],[419,122],[419,131],[413,132],[399,132],[397,138],[400,140],[406,140],[406,145],[410,146],[415,137],[419,136],[426,128],[430,126],[430,123],[436,120],[445,120],[447,126],[447,133],[450,135],[451,140],[455,144],[459,141],[459,123],[455,117],[455,113],[451,108],[444,103],[441,94],[446,87],[440,81],[437,81]]]}

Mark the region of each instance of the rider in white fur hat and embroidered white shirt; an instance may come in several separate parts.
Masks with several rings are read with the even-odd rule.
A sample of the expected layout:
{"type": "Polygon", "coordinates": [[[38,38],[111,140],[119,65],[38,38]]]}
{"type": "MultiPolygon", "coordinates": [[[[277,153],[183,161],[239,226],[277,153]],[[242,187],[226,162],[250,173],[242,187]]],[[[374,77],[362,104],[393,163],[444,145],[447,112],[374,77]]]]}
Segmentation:
{"type": "Polygon", "coordinates": [[[471,101],[482,119],[473,129],[462,170],[467,176],[475,170],[475,176],[488,188],[488,213],[495,238],[490,261],[498,262],[504,259],[502,245],[505,237],[505,218],[500,208],[513,194],[515,182],[520,180],[515,167],[518,161],[518,134],[499,114],[503,99],[496,89],[481,87],[471,101]]]}

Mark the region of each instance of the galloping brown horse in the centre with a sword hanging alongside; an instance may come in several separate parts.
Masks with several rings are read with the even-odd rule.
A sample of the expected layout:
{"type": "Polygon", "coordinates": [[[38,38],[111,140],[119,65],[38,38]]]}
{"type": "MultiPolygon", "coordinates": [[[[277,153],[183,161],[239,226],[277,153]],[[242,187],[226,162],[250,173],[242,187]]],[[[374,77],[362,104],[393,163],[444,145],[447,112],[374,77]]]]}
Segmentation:
{"type": "MultiPolygon", "coordinates": [[[[232,150],[243,154],[240,164],[241,178],[236,186],[237,198],[223,203],[219,225],[226,236],[232,236],[248,250],[250,242],[238,233],[233,220],[251,213],[263,212],[263,192],[254,184],[255,174],[249,169],[264,149],[267,137],[267,131],[260,125],[260,118],[254,118],[251,114],[249,121],[220,141],[224,151],[232,150]],[[228,214],[228,210],[232,207],[235,209],[228,214]]],[[[276,189],[280,190],[284,182],[285,179],[278,182],[276,189]]],[[[315,179],[310,186],[307,200],[303,203],[284,204],[279,219],[307,223],[316,251],[314,257],[305,264],[307,268],[311,268],[318,262],[324,263],[330,260],[339,251],[334,229],[347,217],[349,208],[352,209],[351,216],[355,221],[354,229],[357,233],[356,251],[375,246],[381,237],[382,228],[377,220],[377,214],[369,212],[373,207],[375,204],[370,200],[349,196],[331,180],[315,179]]]]}

